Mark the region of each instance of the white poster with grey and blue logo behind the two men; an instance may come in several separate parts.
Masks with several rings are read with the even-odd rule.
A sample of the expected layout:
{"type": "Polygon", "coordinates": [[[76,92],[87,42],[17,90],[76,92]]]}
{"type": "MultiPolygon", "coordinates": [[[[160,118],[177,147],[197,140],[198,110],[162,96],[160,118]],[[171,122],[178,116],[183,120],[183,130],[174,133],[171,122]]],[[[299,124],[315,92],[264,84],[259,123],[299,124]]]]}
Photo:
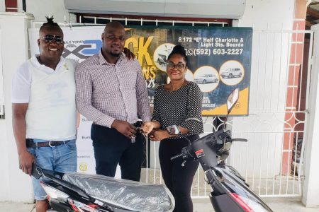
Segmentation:
{"type": "MultiPolygon", "coordinates": [[[[65,40],[65,51],[62,56],[79,62],[96,54],[102,47],[101,34],[104,26],[62,28],[65,40]]],[[[38,54],[39,28],[28,29],[31,55],[38,54]]],[[[95,174],[94,150],[91,141],[91,124],[81,116],[77,131],[77,171],[95,174]]],[[[116,177],[121,177],[121,170],[117,169],[116,177]]]]}

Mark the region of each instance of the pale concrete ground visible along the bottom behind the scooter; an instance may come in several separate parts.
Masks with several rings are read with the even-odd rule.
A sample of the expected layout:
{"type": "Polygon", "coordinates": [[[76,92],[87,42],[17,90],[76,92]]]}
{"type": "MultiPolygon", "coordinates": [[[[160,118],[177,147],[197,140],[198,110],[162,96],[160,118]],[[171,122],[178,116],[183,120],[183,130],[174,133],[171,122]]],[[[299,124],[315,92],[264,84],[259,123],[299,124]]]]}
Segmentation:
{"type": "MultiPolygon", "coordinates": [[[[265,198],[264,201],[274,212],[319,212],[319,207],[306,208],[299,198],[265,198]]],[[[209,199],[194,199],[194,212],[213,212],[209,199]]],[[[0,211],[35,212],[33,204],[0,202],[0,211]]]]}

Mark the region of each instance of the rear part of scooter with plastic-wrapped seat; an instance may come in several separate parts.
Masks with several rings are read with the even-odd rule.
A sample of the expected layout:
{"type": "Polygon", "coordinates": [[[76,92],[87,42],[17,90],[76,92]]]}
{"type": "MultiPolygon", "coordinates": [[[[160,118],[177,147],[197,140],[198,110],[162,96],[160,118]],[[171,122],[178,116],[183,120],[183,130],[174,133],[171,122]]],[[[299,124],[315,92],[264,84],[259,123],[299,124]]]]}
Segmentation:
{"type": "Polygon", "coordinates": [[[33,165],[52,209],[65,212],[173,211],[174,197],[162,184],[83,173],[60,173],[33,165]]]}

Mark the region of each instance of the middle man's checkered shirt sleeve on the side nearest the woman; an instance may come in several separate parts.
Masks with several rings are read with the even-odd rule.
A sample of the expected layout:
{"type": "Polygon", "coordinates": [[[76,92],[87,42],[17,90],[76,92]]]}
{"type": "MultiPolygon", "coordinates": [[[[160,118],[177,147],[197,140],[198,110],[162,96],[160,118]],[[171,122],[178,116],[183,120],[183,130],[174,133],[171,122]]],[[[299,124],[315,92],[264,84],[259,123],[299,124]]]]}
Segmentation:
{"type": "Polygon", "coordinates": [[[150,122],[150,100],[148,99],[145,78],[142,75],[142,67],[135,60],[136,69],[138,69],[138,76],[136,78],[136,98],[138,104],[138,115],[143,122],[150,122]]]}

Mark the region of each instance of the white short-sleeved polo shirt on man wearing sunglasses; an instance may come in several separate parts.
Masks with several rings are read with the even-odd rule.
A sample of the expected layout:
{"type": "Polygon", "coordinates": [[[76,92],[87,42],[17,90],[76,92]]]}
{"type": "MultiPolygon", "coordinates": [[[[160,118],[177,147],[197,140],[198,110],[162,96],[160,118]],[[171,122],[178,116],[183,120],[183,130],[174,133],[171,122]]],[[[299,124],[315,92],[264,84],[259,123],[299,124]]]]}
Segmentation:
{"type": "Polygon", "coordinates": [[[40,64],[36,57],[23,63],[12,81],[12,103],[28,103],[26,138],[75,139],[74,72],[78,63],[61,57],[53,70],[40,64]]]}

